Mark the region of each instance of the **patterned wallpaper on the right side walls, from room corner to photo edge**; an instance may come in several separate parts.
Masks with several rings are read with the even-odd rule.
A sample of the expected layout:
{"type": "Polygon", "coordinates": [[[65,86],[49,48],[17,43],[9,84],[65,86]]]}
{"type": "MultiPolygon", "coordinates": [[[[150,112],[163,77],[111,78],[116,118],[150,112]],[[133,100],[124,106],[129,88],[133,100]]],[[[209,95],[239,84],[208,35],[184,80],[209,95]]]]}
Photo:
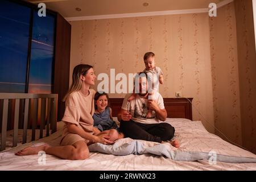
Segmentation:
{"type": "Polygon", "coordinates": [[[209,18],[209,25],[214,125],[233,142],[256,153],[256,56],[251,7],[249,0],[235,0],[218,9],[217,17],[209,18]]]}

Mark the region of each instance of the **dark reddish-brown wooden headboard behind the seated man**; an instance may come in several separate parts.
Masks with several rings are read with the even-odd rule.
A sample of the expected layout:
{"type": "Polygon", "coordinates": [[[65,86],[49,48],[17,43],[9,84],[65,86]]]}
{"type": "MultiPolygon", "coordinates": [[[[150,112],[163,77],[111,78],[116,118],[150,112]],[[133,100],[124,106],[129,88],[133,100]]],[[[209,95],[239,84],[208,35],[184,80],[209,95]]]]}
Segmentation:
{"type": "MultiPolygon", "coordinates": [[[[193,98],[188,98],[192,102],[193,98]]],[[[113,110],[113,117],[116,117],[122,107],[123,98],[109,98],[113,110]]],[[[187,98],[163,98],[168,118],[187,118],[192,120],[192,105],[187,98]]]]}

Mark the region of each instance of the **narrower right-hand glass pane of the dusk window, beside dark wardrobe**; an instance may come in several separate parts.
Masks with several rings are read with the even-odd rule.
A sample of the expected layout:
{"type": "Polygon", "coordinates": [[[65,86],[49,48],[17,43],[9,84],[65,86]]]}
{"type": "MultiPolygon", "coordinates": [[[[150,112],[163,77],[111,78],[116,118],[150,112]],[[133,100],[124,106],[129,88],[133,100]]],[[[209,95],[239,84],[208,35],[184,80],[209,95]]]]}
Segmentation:
{"type": "Polygon", "coordinates": [[[38,16],[34,11],[28,93],[51,93],[53,88],[53,59],[55,16],[38,16]]]}

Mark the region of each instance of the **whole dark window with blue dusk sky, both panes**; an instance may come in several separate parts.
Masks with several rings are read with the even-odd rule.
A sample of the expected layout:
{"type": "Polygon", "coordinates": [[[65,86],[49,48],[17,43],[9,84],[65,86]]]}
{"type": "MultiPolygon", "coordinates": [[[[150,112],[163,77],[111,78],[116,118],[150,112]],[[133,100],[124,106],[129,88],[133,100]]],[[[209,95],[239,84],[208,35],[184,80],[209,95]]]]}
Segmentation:
{"type": "Polygon", "coordinates": [[[0,1],[0,92],[52,93],[56,15],[0,1]]]}

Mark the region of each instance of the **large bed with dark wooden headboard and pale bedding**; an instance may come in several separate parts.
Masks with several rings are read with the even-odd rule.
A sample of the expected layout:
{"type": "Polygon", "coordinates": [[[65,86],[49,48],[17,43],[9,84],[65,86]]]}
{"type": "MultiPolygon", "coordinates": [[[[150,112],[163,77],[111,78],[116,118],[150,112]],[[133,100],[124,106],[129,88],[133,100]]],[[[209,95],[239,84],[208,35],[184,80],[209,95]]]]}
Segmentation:
{"type": "MultiPolygon", "coordinates": [[[[164,99],[168,113],[165,122],[175,127],[175,139],[180,142],[179,149],[175,149],[168,143],[161,145],[155,142],[125,138],[118,140],[112,146],[91,145],[90,157],[86,160],[63,160],[56,156],[45,155],[45,163],[40,163],[42,155],[14,155],[14,152],[26,146],[37,146],[44,143],[58,146],[63,123],[57,122],[56,132],[53,132],[50,136],[0,152],[0,170],[256,170],[256,155],[208,133],[201,121],[191,121],[191,101],[192,98],[189,98],[189,100],[185,98],[164,99]],[[134,148],[130,154],[125,155],[118,152],[115,154],[112,151],[113,148],[115,152],[122,151],[123,146],[133,146],[134,148]],[[163,154],[159,154],[159,151],[155,150],[156,148],[159,149],[159,146],[163,148],[160,151],[163,154]],[[110,151],[115,155],[99,152],[100,148],[104,147],[106,149],[105,153],[110,151]],[[170,156],[164,152],[167,152],[170,156]],[[203,158],[201,158],[202,156],[203,158]],[[217,159],[215,160],[216,156],[217,159]]],[[[111,98],[110,102],[115,116],[114,121],[118,123],[116,114],[121,107],[122,99],[111,98]]]]}

